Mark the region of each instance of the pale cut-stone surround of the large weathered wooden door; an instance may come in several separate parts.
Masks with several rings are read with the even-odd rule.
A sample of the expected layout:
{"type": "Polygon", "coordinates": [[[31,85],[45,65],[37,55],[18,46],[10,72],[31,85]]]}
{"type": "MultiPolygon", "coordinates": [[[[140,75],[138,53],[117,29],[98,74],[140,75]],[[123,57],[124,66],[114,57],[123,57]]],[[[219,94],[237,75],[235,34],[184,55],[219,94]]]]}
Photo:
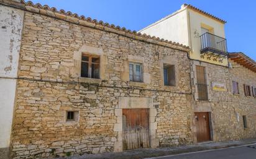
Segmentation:
{"type": "Polygon", "coordinates": [[[114,124],[114,132],[117,132],[117,140],[114,143],[114,152],[122,152],[122,109],[147,108],[149,109],[149,140],[150,148],[157,148],[159,140],[156,138],[157,109],[153,107],[152,98],[144,97],[119,97],[118,108],[115,109],[117,118],[114,124]]]}

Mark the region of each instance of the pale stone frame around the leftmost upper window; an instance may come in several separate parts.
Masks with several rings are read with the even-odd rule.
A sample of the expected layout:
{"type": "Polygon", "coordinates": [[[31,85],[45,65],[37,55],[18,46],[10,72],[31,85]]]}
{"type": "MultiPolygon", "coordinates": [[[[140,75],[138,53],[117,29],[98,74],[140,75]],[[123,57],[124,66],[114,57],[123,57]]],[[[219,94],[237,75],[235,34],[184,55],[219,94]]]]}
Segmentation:
{"type": "Polygon", "coordinates": [[[107,65],[107,57],[102,48],[83,45],[78,51],[75,51],[73,54],[73,59],[75,61],[75,69],[77,71],[78,81],[93,83],[93,84],[101,84],[102,80],[108,80],[106,75],[106,65],[107,65]],[[92,79],[88,77],[81,77],[81,56],[82,54],[88,54],[90,56],[98,56],[99,57],[99,79],[92,79]]]}

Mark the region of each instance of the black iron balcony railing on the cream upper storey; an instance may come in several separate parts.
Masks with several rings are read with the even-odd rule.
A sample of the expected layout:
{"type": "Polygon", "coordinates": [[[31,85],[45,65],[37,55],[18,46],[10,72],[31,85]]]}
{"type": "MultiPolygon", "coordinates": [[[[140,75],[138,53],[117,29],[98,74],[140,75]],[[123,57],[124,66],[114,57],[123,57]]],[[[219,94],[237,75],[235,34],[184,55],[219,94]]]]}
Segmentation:
{"type": "Polygon", "coordinates": [[[226,38],[218,37],[211,33],[204,33],[200,36],[201,54],[215,53],[227,56],[227,40],[226,38]]]}

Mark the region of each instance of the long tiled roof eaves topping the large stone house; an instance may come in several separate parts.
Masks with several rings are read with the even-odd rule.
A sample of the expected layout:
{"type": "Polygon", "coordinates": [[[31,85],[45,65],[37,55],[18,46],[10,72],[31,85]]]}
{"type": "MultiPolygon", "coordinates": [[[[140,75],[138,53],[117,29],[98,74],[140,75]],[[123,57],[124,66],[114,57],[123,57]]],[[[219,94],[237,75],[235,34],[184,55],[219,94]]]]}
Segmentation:
{"type": "MultiPolygon", "coordinates": [[[[5,0],[1,0],[5,1],[5,0]]],[[[8,1],[7,1],[8,2],[8,1]]],[[[73,14],[72,12],[64,11],[60,9],[58,11],[55,7],[49,7],[47,5],[42,6],[37,3],[34,4],[31,1],[25,2],[21,0],[21,4],[24,4],[25,10],[30,12],[35,12],[37,14],[47,15],[49,17],[55,17],[57,19],[65,20],[67,22],[71,22],[73,24],[83,25],[91,28],[98,28],[100,30],[104,30],[106,32],[117,33],[119,35],[123,35],[125,37],[133,38],[135,40],[145,41],[147,43],[153,43],[156,45],[167,46],[173,49],[179,49],[181,51],[189,52],[190,47],[182,45],[180,43],[176,43],[174,41],[168,41],[164,39],[160,39],[158,37],[151,37],[150,35],[146,35],[145,33],[137,33],[135,30],[127,30],[125,27],[119,27],[114,24],[104,23],[102,20],[91,19],[90,17],[85,17],[83,15],[73,14]]]]}

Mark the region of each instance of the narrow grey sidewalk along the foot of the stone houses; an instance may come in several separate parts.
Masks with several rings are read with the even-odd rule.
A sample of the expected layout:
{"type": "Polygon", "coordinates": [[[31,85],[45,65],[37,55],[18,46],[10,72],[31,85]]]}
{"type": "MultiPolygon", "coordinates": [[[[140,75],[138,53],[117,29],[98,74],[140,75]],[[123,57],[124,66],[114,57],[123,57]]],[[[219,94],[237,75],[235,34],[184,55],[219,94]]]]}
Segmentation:
{"type": "MultiPolygon", "coordinates": [[[[229,142],[208,142],[196,145],[186,145],[180,147],[170,147],[170,148],[143,148],[136,150],[128,150],[125,152],[108,152],[100,154],[84,154],[84,155],[73,155],[72,157],[66,157],[68,159],[139,159],[139,158],[149,158],[149,157],[160,157],[165,155],[174,155],[178,153],[186,152],[196,152],[201,150],[211,150],[217,148],[234,147],[238,145],[247,145],[256,143],[256,139],[244,139],[235,140],[229,142]]],[[[66,159],[65,158],[65,159],[66,159]]],[[[63,157],[57,158],[63,159],[63,157]]]]}

